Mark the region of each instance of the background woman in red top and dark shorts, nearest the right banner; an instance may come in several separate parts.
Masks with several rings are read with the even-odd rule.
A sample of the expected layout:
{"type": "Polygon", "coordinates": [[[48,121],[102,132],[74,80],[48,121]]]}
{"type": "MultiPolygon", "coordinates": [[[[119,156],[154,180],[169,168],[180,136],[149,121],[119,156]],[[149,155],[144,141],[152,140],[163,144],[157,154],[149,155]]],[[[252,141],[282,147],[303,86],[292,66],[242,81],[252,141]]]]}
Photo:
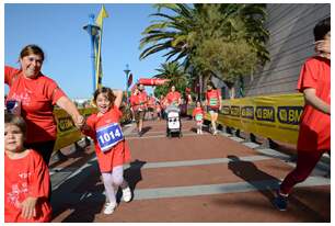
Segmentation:
{"type": "Polygon", "coordinates": [[[206,92],[206,104],[207,111],[210,114],[212,134],[217,135],[217,121],[219,111],[221,110],[221,94],[216,89],[212,82],[207,84],[207,92],[206,92]]]}

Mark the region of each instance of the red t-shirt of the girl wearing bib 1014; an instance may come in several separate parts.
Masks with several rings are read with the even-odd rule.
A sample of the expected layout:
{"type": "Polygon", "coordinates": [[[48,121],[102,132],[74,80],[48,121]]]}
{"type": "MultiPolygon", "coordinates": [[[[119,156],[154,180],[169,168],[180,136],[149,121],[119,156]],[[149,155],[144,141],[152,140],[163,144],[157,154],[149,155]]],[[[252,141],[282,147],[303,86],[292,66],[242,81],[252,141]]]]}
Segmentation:
{"type": "Polygon", "coordinates": [[[111,150],[103,152],[96,137],[96,129],[108,124],[119,123],[122,115],[123,113],[118,108],[114,106],[102,116],[92,114],[88,117],[86,125],[89,129],[84,129],[83,133],[94,140],[97,162],[102,172],[111,172],[114,167],[130,161],[130,150],[126,140],[117,143],[111,150]]]}

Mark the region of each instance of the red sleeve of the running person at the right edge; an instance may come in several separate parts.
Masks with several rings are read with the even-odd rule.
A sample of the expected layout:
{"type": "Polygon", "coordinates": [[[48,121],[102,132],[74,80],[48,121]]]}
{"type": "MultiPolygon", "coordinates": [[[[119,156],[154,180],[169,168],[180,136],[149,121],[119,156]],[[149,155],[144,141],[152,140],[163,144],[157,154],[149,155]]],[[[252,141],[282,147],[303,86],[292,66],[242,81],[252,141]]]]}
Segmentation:
{"type": "Polygon", "coordinates": [[[305,88],[317,88],[319,69],[315,60],[308,60],[301,68],[297,89],[303,92],[305,88]]]}

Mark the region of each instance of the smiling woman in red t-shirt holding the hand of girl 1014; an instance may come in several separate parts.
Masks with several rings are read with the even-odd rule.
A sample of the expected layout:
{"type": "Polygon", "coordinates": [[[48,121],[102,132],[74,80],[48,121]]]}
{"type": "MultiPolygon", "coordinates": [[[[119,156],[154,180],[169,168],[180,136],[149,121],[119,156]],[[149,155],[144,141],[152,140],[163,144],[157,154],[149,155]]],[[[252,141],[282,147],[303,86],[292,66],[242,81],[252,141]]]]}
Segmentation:
{"type": "Polygon", "coordinates": [[[42,48],[25,46],[20,54],[21,68],[4,67],[4,82],[10,87],[7,111],[23,116],[27,124],[26,147],[38,151],[48,165],[57,135],[54,105],[69,113],[79,127],[84,117],[58,84],[41,72],[43,60],[42,48]]]}

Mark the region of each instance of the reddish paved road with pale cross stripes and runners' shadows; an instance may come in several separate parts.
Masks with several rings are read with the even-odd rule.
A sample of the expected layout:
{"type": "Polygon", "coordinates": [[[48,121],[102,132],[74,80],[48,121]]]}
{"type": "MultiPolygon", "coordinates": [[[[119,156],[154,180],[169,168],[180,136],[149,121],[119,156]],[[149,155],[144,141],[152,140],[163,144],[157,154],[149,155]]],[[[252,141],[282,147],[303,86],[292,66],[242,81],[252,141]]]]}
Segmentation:
{"type": "Polygon", "coordinates": [[[134,189],[130,203],[113,215],[105,201],[93,147],[50,167],[53,222],[330,222],[331,180],[321,166],[290,196],[287,212],[270,203],[273,189],[293,168],[290,156],[221,133],[197,135],[183,121],[183,137],[166,138],[165,122],[124,128],[132,161],[125,178],[134,189]]]}

